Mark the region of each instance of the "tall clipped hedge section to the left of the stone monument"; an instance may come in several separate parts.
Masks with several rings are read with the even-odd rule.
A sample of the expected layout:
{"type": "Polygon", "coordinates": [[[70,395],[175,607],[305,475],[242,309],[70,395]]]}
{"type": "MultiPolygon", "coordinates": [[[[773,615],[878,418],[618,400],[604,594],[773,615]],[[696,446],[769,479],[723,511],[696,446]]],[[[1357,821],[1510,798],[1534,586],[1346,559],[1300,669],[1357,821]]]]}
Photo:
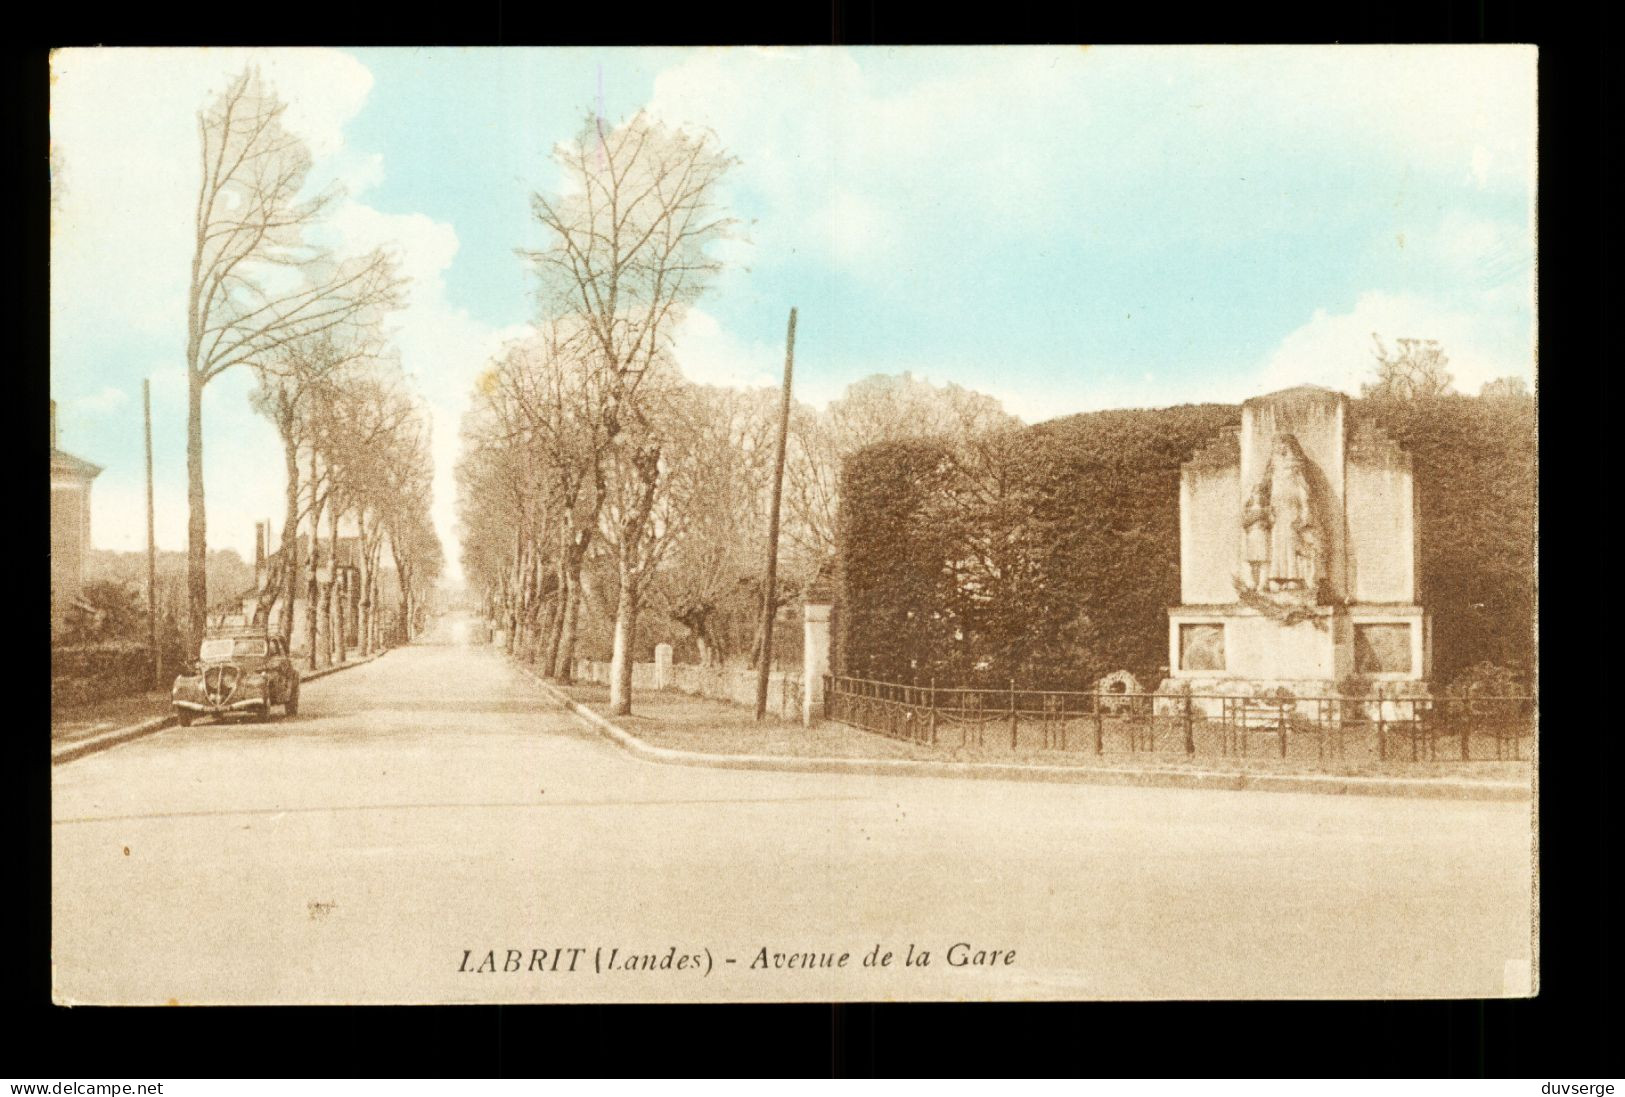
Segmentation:
{"type": "Polygon", "coordinates": [[[1180,596],[1180,463],[1238,421],[1222,405],[1102,411],[860,450],[840,496],[842,673],[1154,678],[1180,596]]]}

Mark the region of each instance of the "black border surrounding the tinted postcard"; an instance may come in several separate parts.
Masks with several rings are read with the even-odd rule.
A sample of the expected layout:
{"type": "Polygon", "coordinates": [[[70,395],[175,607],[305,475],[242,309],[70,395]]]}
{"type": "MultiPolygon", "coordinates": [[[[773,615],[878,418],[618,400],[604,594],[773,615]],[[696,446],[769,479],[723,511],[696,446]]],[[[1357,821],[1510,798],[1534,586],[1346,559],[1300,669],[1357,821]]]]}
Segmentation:
{"type": "MultiPolygon", "coordinates": [[[[36,11],[15,52],[6,106],[18,119],[8,167],[21,187],[18,263],[8,263],[26,397],[13,406],[20,450],[37,453],[49,388],[47,49],[80,44],[613,44],[613,42],[1537,42],[1540,46],[1540,427],[1542,691],[1540,982],[1529,1001],[1417,1003],[1071,1003],[819,1006],[525,1006],[60,1009],[50,1004],[49,696],[46,645],[24,639],[6,722],[13,856],[3,879],[18,933],[0,952],[11,1024],[0,1071],[11,1077],[208,1076],[1620,1076],[1618,934],[1614,892],[1620,821],[1620,705],[1606,691],[1617,655],[1592,648],[1596,606],[1617,553],[1604,530],[1599,475],[1617,406],[1615,273],[1604,268],[1618,184],[1599,153],[1617,143],[1618,16],[1562,23],[1534,2],[1341,0],[1315,16],[1238,5],[1170,11],[1012,0],[957,11],[878,0],[778,7],[770,15],[673,5],[650,15],[502,0],[413,13],[341,3],[239,8],[138,5],[36,11]],[[572,20],[598,15],[587,26],[572,20]],[[608,18],[604,18],[608,15],[608,18]],[[613,28],[613,29],[611,29],[613,28]],[[1609,348],[1612,349],[1612,348],[1609,348]],[[1606,354],[1609,354],[1606,358],[1606,354]],[[1578,488],[1570,491],[1570,484],[1578,488]],[[1580,494],[1584,492],[1584,494],[1580,494]],[[1573,502],[1570,502],[1573,499],[1573,502]],[[1570,553],[1566,535],[1583,536],[1570,553]],[[1555,562],[1555,566],[1552,566],[1555,562]],[[32,666],[34,670],[28,670],[32,666]],[[1602,673],[1599,673],[1602,671],[1602,673]],[[23,684],[26,683],[26,684],[23,684]],[[1575,696],[1566,691],[1592,691],[1575,696]],[[1581,715],[1584,713],[1584,715],[1581,715]]],[[[1588,11],[1591,5],[1584,7],[1588,11]]],[[[1597,5],[1602,7],[1602,5],[1597,5]]],[[[37,460],[29,458],[29,460],[37,460]]],[[[26,465],[26,463],[24,463],[26,465]]],[[[36,489],[37,491],[37,489],[36,489]]],[[[49,496],[37,525],[10,538],[23,622],[44,621],[49,496]],[[21,544],[21,549],[18,551],[21,544]],[[32,596],[29,596],[32,595],[32,596]]],[[[11,629],[34,635],[34,626],[11,629]]],[[[1612,650],[1612,648],[1610,648],[1612,650]]],[[[1404,933],[1386,926],[1384,933],[1404,933]]]]}

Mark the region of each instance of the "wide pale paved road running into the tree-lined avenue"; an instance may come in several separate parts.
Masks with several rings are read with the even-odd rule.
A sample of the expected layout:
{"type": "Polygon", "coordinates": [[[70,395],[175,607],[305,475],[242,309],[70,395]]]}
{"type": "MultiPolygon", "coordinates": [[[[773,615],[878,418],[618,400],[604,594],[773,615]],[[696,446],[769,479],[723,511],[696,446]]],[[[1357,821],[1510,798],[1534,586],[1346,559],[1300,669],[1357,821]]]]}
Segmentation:
{"type": "Polygon", "coordinates": [[[1526,806],[666,767],[453,644],[52,778],[81,1003],[1477,996],[1529,960],[1526,806]]]}

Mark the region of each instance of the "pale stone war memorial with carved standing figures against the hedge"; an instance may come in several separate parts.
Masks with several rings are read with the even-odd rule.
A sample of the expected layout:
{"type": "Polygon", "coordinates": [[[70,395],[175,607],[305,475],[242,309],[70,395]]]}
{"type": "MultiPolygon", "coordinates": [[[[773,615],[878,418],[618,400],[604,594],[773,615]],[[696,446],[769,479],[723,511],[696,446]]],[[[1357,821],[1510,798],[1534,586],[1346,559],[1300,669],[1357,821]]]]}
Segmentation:
{"type": "Polygon", "coordinates": [[[1180,470],[1180,598],[1164,689],[1326,696],[1347,678],[1425,692],[1410,455],[1349,398],[1300,387],[1180,470]]]}

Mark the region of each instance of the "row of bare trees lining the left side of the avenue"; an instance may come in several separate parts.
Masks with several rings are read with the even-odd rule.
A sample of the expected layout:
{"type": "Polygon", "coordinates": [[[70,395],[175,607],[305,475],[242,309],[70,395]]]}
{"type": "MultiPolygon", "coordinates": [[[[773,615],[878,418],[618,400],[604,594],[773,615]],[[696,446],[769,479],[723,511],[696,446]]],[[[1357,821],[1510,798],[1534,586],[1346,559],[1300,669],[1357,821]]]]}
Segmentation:
{"type": "Polygon", "coordinates": [[[406,280],[385,249],[340,255],[323,242],[323,215],[340,192],[309,193],[310,150],[284,128],[284,109],[249,68],[198,112],[202,174],[187,296],[187,605],[195,647],[210,606],[203,392],[245,367],[257,380],[254,406],[281,439],[288,476],[281,551],[258,614],[281,601],[281,631],[291,635],[302,596],[314,666],[343,658],[341,527],[356,530],[349,559],[359,574],[361,619],[351,627],[364,648],[384,639],[375,608],[385,546],[410,639],[414,603],[440,569],[440,544],[429,522],[427,414],[406,388],[385,328],[406,280]]]}

